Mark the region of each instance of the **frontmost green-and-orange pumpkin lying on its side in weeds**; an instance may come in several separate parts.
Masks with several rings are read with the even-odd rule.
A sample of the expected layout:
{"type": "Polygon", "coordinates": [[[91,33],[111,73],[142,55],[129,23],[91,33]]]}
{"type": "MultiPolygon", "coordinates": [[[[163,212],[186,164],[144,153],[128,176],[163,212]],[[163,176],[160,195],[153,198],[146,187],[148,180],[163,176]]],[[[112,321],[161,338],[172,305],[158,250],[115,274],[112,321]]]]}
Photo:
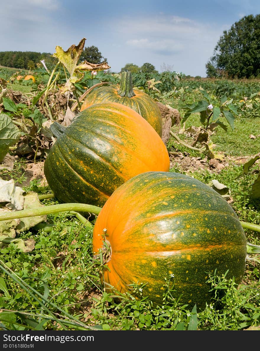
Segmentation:
{"type": "Polygon", "coordinates": [[[169,288],[181,303],[203,308],[214,294],[208,273],[228,270],[226,278],[239,284],[247,248],[238,216],[215,190],[184,174],[146,172],[121,185],[101,209],[94,257],[100,252],[108,292],[138,298],[131,285],[144,285],[142,297],[162,305],[169,288]]]}

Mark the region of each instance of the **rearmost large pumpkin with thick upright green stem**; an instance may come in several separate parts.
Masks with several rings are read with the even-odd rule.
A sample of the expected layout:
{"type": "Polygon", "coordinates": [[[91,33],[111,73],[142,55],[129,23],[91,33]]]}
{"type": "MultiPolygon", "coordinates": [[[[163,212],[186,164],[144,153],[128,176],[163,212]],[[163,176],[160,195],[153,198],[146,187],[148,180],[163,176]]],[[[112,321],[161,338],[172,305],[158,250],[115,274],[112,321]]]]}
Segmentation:
{"type": "Polygon", "coordinates": [[[154,101],[148,94],[139,90],[133,89],[131,72],[122,72],[119,85],[101,86],[90,92],[80,111],[85,110],[88,106],[98,102],[114,101],[120,104],[131,107],[138,112],[156,132],[162,136],[162,117],[161,112],[154,101]]]}

